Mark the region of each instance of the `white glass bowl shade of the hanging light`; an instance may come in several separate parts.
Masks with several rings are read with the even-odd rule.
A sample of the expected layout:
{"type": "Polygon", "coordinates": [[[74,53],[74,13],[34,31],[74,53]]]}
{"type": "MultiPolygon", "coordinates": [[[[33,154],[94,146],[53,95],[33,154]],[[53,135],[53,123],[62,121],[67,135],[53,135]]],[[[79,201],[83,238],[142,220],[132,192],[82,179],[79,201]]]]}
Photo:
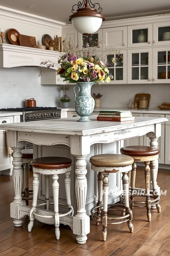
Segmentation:
{"type": "Polygon", "coordinates": [[[103,18],[92,16],[81,16],[71,19],[73,27],[81,34],[93,34],[100,27],[103,18]]]}

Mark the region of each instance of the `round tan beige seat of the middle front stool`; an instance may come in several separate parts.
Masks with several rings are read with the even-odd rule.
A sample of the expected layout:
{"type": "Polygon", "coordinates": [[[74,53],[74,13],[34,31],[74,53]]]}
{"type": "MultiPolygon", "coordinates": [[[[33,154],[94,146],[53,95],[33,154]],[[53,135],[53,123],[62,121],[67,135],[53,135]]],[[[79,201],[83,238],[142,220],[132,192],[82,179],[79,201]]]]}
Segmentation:
{"type": "Polygon", "coordinates": [[[91,164],[102,167],[128,166],[133,164],[133,161],[131,156],[120,154],[100,154],[90,158],[91,164]]]}

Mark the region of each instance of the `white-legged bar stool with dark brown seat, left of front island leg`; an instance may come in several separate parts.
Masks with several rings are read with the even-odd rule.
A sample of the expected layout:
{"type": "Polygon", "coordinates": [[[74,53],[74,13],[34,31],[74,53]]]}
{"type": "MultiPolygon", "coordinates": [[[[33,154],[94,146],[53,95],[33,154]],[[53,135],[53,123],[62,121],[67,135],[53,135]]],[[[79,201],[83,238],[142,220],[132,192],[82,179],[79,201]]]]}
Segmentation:
{"type": "Polygon", "coordinates": [[[33,159],[31,161],[31,165],[33,166],[34,180],[33,180],[33,203],[29,213],[29,220],[30,220],[28,224],[29,232],[31,232],[31,229],[33,227],[35,216],[39,216],[42,218],[54,218],[56,238],[57,240],[60,238],[59,217],[66,216],[69,214],[73,216],[74,214],[73,206],[71,205],[71,195],[70,195],[71,179],[69,177],[72,164],[73,164],[72,160],[66,157],[40,157],[40,158],[33,159]],[[45,203],[37,205],[40,174],[44,174],[44,178],[45,178],[45,203]],[[58,174],[65,174],[64,184],[65,184],[67,205],[58,202],[58,199],[59,199],[58,174]],[[53,191],[54,203],[50,203],[49,201],[50,175],[52,175],[52,179],[53,179],[52,191],[53,191]],[[45,208],[49,209],[51,204],[54,204],[54,214],[48,215],[48,212],[47,212],[47,215],[42,215],[37,213],[37,210],[36,210],[37,207],[45,205],[45,208]],[[64,214],[59,214],[59,205],[64,205],[68,207],[69,211],[64,214]]]}

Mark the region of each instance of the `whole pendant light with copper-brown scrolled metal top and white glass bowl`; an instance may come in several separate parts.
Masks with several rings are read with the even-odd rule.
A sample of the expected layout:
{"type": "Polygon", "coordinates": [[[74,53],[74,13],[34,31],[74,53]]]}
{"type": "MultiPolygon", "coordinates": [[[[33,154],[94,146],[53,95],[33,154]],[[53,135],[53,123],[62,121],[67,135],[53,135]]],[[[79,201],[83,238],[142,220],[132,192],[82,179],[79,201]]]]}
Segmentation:
{"type": "Polygon", "coordinates": [[[99,5],[99,3],[92,4],[91,0],[83,0],[82,3],[78,1],[78,4],[72,7],[73,15],[69,16],[69,21],[72,22],[75,30],[84,36],[95,33],[101,27],[102,21],[105,20],[105,15],[101,14],[100,5],[99,11],[94,9],[95,5],[99,5]],[[76,12],[75,6],[78,7],[76,12]]]}

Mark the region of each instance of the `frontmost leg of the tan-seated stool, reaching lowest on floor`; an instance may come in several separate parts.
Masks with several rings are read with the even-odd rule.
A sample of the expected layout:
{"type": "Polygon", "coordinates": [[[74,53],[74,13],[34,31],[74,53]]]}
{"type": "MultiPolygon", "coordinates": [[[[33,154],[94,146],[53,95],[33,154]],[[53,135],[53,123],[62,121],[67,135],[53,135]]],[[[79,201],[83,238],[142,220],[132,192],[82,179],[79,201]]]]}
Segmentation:
{"type": "Polygon", "coordinates": [[[109,175],[108,173],[103,172],[103,217],[102,217],[103,241],[106,241],[106,236],[107,236],[107,205],[108,205],[108,193],[109,193],[108,175],[109,175]]]}

